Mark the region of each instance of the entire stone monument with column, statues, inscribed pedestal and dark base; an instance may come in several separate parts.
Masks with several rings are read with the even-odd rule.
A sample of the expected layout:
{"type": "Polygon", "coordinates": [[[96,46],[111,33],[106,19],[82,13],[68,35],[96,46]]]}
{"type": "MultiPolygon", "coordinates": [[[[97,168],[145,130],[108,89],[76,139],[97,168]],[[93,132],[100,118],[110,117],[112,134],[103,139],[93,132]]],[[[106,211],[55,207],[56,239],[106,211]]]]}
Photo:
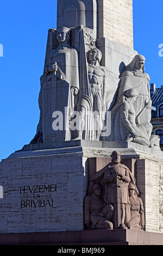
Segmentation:
{"type": "Polygon", "coordinates": [[[1,243],[162,245],[163,154],[132,0],[57,10],[36,134],[0,164],[1,243]]]}

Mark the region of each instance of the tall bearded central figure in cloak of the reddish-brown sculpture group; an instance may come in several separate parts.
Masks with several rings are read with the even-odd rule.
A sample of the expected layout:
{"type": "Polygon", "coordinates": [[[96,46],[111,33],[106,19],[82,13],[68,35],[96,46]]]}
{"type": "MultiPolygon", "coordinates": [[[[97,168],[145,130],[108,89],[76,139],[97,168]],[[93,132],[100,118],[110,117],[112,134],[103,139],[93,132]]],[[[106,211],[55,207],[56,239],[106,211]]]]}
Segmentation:
{"type": "Polygon", "coordinates": [[[117,150],[111,154],[111,163],[95,173],[90,180],[89,190],[91,190],[91,184],[99,182],[104,190],[104,204],[113,206],[111,222],[115,229],[127,228],[126,222],[130,219],[128,187],[133,185],[135,195],[139,195],[135,181],[128,167],[121,163],[121,155],[117,150]]]}

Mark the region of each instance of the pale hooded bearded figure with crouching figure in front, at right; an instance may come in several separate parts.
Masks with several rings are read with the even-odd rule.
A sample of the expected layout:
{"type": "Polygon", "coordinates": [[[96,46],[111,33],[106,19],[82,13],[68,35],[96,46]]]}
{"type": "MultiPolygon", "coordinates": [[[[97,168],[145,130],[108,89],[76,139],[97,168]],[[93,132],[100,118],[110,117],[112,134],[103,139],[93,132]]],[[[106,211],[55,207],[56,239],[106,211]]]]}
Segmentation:
{"type": "Polygon", "coordinates": [[[145,60],[145,57],[137,54],[120,75],[117,100],[111,109],[110,141],[131,141],[147,147],[151,145],[152,101],[145,60]]]}

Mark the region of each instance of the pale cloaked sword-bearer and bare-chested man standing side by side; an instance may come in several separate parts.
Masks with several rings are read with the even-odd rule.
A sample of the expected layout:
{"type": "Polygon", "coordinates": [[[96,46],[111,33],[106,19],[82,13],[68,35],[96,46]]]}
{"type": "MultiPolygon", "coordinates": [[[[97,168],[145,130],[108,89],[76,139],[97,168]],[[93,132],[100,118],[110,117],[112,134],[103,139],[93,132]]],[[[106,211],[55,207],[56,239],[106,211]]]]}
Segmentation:
{"type": "Polygon", "coordinates": [[[51,137],[54,142],[59,139],[100,139],[106,111],[106,71],[100,65],[101,59],[102,53],[96,48],[91,29],[83,26],[49,29],[45,69],[40,78],[40,121],[30,144],[51,142],[51,137]],[[64,81],[67,85],[61,86],[64,81]],[[51,87],[53,89],[49,89],[51,87]],[[59,92],[55,89],[54,92],[57,87],[62,90],[59,92]],[[57,95],[62,99],[60,105],[57,103],[57,95]],[[68,107],[68,131],[65,136],[61,132],[54,136],[51,115],[56,110],[63,113],[63,107],[68,107]],[[80,120],[76,131],[73,131],[71,127],[76,111],[80,114],[80,120]],[[46,136],[47,133],[49,136],[46,136]]]}

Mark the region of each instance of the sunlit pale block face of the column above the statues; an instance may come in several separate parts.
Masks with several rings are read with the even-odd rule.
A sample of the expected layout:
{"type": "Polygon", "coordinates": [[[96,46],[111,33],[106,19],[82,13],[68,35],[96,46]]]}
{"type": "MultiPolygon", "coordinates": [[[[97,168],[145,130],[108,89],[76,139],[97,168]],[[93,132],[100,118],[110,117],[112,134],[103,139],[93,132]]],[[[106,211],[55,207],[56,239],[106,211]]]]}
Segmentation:
{"type": "Polygon", "coordinates": [[[98,0],[98,38],[133,50],[133,0],[98,0]]]}

